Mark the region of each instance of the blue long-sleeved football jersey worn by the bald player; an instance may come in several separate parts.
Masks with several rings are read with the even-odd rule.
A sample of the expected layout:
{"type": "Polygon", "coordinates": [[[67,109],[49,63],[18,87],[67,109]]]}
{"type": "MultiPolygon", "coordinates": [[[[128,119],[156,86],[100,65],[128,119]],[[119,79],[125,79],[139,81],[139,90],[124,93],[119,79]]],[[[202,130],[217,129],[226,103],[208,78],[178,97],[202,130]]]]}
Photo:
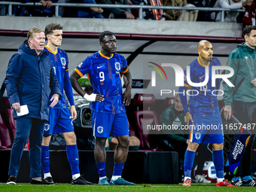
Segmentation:
{"type": "MultiPolygon", "coordinates": [[[[197,58],[189,64],[190,66],[190,80],[193,83],[201,83],[206,78],[206,66],[200,62],[197,58]]],[[[179,95],[181,103],[184,107],[184,112],[188,111],[187,107],[187,89],[189,91],[189,111],[190,114],[202,114],[203,116],[211,115],[219,111],[218,108],[218,87],[220,79],[216,81],[216,87],[212,87],[212,66],[221,66],[221,62],[216,57],[212,58],[212,62],[209,64],[209,81],[203,87],[192,87],[187,83],[187,68],[184,70],[184,87],[179,88],[179,95]],[[185,91],[184,91],[185,90],[185,91]],[[183,92],[185,96],[183,96],[183,92]],[[213,92],[212,92],[213,91],[213,92]],[[197,94],[198,93],[198,94],[197,94]],[[192,95],[192,96],[191,96],[192,95]]],[[[219,74],[220,70],[216,70],[215,73],[219,74]]]]}

